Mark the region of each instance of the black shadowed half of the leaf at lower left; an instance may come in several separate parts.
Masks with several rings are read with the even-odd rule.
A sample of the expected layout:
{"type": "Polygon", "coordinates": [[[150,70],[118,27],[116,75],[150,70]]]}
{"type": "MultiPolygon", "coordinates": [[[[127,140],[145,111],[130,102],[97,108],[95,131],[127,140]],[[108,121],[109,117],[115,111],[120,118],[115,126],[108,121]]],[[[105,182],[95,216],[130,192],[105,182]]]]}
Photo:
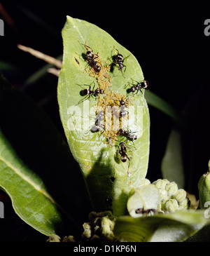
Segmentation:
{"type": "Polygon", "coordinates": [[[64,227],[60,227],[57,234],[81,234],[91,205],[80,168],[68,144],[45,112],[6,80],[0,83],[0,116],[3,136],[18,158],[41,178],[64,212],[80,222],[78,230],[64,214],[64,227]]]}

